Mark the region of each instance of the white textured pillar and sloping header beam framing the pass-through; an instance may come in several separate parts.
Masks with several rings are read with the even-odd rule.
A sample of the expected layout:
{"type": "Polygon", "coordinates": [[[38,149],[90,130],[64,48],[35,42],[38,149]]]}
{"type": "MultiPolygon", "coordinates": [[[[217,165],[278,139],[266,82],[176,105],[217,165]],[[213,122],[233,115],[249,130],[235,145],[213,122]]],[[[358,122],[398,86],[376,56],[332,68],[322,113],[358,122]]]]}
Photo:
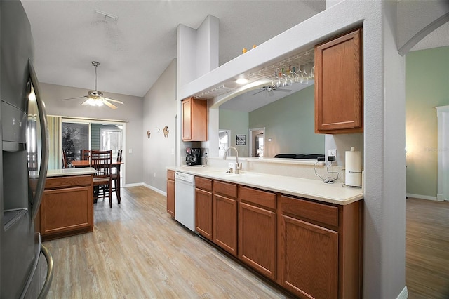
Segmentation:
{"type": "Polygon", "coordinates": [[[180,98],[207,90],[363,24],[364,298],[396,298],[405,289],[405,92],[395,17],[396,1],[341,1],[178,90],[180,98]]]}

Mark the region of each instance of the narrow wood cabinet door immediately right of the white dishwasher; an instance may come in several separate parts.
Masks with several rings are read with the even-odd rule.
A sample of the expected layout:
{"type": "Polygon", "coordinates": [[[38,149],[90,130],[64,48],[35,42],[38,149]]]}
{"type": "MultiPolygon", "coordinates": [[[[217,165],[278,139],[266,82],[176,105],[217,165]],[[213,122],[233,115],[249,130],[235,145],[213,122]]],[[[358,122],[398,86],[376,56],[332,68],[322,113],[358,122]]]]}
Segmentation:
{"type": "Polygon", "coordinates": [[[201,236],[213,240],[212,192],[195,189],[195,229],[201,236]]]}

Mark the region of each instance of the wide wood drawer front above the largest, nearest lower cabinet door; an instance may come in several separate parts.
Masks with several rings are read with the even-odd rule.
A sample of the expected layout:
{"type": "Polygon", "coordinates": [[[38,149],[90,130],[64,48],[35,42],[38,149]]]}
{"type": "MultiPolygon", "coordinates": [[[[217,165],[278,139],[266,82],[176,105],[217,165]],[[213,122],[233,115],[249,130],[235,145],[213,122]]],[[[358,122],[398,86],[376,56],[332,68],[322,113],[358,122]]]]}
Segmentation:
{"type": "Polygon", "coordinates": [[[336,206],[318,204],[284,195],[280,195],[279,198],[282,212],[338,227],[338,208],[336,206]]]}

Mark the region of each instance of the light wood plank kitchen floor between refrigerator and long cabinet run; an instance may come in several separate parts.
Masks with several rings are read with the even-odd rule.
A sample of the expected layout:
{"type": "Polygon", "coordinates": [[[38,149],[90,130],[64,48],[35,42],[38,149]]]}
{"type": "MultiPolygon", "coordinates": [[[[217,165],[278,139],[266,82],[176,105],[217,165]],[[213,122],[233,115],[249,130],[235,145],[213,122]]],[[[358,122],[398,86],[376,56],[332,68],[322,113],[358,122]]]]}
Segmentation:
{"type": "Polygon", "coordinates": [[[146,187],[98,200],[94,232],[46,241],[54,261],[48,298],[288,298],[185,230],[166,197],[146,187]]]}

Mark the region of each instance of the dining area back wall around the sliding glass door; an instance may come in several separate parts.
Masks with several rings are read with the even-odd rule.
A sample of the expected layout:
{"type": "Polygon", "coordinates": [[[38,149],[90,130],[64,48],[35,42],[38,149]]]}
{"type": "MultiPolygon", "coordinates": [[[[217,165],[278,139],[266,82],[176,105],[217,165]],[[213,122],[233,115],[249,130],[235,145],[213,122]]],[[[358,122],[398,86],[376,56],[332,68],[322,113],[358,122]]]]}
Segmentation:
{"type": "Polygon", "coordinates": [[[88,91],[82,88],[60,86],[40,83],[41,97],[46,104],[49,115],[62,117],[87,117],[93,119],[126,120],[126,147],[125,147],[125,179],[127,184],[142,183],[142,98],[118,93],[105,93],[105,97],[121,100],[124,105],[118,109],[106,106],[81,106],[83,99],[65,100],[87,95],[88,91]],[[139,133],[138,133],[139,132],[139,133]],[[129,153],[132,150],[132,153],[129,153]]]}

